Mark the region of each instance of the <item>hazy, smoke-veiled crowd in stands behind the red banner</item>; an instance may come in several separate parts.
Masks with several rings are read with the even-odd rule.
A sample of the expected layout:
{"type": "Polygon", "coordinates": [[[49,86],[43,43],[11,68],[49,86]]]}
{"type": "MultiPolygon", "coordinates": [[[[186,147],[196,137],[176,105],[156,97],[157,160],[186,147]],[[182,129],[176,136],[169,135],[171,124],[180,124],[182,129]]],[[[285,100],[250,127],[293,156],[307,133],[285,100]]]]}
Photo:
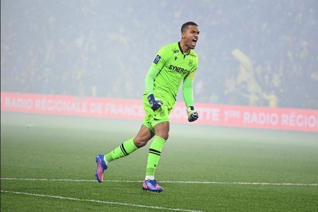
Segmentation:
{"type": "Polygon", "coordinates": [[[317,110],[317,10],[315,0],[2,1],[1,91],[141,99],[156,51],[195,21],[195,102],[317,110]]]}

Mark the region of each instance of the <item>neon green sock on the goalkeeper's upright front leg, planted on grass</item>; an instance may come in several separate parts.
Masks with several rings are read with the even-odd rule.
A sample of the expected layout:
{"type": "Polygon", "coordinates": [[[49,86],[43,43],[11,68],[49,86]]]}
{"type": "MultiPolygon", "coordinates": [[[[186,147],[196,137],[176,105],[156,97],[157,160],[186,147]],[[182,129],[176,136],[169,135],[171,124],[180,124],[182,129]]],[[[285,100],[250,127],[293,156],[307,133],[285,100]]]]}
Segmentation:
{"type": "Polygon", "coordinates": [[[154,171],[159,162],[161,151],[166,140],[156,136],[150,145],[147,161],[146,176],[154,176],[154,171]]]}

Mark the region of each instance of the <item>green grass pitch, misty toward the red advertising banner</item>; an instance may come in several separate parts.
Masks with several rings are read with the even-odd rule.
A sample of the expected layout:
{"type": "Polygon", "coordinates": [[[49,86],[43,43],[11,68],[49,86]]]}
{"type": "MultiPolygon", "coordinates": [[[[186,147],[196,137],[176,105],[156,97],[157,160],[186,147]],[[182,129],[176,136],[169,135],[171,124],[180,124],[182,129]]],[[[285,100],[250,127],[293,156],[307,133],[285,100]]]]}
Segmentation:
{"type": "Polygon", "coordinates": [[[140,121],[1,113],[1,211],[317,211],[316,133],[171,123],[156,170],[164,192],[141,189],[150,142],[112,162],[109,181],[95,181],[96,154],[139,128],[140,121]],[[203,181],[210,183],[194,183],[203,181]]]}

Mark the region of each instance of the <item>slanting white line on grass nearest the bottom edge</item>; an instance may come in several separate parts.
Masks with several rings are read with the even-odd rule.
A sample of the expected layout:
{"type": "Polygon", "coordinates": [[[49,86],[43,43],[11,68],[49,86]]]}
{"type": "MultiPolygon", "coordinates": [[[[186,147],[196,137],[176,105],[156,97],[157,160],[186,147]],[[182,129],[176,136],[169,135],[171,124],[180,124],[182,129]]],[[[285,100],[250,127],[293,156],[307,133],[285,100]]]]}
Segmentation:
{"type": "Polygon", "coordinates": [[[44,194],[31,194],[31,193],[25,193],[25,192],[14,192],[14,191],[3,191],[3,190],[1,190],[1,192],[2,193],[11,193],[11,194],[30,195],[30,196],[37,196],[37,197],[50,197],[50,198],[56,198],[56,199],[67,199],[67,200],[75,200],[75,201],[97,202],[97,203],[134,206],[134,207],[145,207],[145,208],[153,208],[153,209],[164,209],[164,210],[185,211],[185,212],[203,212],[202,210],[188,210],[188,209],[180,209],[180,208],[161,207],[161,206],[128,204],[128,203],[122,203],[122,202],[108,202],[108,201],[101,201],[101,200],[94,200],[94,199],[78,199],[78,198],[71,198],[71,197],[44,195],[44,194]]]}

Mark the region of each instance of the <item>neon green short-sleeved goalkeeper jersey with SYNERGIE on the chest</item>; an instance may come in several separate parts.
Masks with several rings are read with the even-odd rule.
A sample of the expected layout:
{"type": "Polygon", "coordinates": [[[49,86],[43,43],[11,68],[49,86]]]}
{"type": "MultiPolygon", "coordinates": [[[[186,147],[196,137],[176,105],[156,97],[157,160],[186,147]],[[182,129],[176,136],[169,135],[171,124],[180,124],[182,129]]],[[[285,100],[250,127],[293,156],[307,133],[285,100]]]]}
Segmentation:
{"type": "Polygon", "coordinates": [[[154,96],[159,92],[171,96],[173,102],[169,103],[173,107],[182,80],[194,79],[198,56],[194,50],[184,54],[179,42],[175,42],[163,46],[157,52],[151,66],[160,70],[154,80],[154,96]]]}

